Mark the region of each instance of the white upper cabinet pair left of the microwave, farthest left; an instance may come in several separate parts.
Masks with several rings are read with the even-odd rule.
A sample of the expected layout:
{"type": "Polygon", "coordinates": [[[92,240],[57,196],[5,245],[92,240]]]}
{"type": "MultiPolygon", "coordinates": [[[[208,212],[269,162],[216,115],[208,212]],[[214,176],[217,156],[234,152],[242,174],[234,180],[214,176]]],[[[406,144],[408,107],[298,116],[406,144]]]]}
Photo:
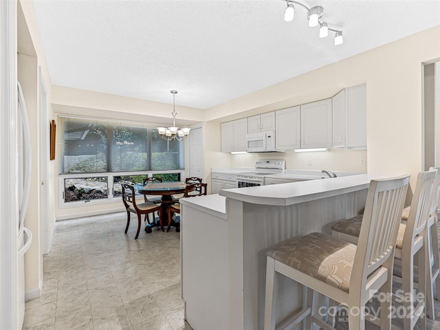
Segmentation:
{"type": "Polygon", "coordinates": [[[221,151],[246,151],[246,133],[248,133],[248,118],[221,123],[221,151]]]}

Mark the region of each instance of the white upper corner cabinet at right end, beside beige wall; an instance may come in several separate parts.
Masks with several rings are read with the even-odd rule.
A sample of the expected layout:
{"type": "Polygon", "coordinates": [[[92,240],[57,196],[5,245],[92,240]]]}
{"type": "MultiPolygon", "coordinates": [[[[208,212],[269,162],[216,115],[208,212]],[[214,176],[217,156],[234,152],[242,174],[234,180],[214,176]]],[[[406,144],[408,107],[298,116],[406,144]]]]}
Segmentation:
{"type": "Polygon", "coordinates": [[[366,84],[340,91],[332,102],[333,147],[366,148],[366,84]]]}

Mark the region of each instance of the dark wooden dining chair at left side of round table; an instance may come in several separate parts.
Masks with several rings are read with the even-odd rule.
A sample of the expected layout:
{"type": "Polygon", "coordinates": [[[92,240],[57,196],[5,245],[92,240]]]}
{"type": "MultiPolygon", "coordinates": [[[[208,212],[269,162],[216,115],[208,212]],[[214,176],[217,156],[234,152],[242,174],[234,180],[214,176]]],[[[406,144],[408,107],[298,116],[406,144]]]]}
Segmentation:
{"type": "Polygon", "coordinates": [[[135,188],[130,184],[122,184],[122,201],[124,202],[126,209],[125,233],[129,230],[130,213],[135,213],[137,215],[137,232],[135,239],[139,236],[142,214],[149,214],[157,211],[159,212],[159,223],[162,223],[162,205],[151,203],[151,201],[146,201],[140,204],[136,203],[135,188]]]}

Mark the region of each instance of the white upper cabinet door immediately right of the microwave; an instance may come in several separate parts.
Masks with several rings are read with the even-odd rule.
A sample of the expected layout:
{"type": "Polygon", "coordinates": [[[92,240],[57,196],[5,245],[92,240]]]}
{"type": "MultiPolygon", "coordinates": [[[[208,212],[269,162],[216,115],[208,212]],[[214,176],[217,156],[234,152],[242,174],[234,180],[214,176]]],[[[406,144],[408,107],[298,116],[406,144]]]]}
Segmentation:
{"type": "Polygon", "coordinates": [[[275,145],[278,150],[300,148],[300,107],[275,111],[275,145]]]}

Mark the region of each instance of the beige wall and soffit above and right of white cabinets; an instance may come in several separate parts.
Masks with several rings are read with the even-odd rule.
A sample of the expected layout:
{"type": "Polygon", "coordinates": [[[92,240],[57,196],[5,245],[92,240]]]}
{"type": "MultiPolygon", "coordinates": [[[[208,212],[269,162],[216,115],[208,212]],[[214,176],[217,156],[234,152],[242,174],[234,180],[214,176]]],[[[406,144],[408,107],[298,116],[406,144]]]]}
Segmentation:
{"type": "MultiPolygon", "coordinates": [[[[255,109],[281,109],[366,83],[368,172],[410,173],[415,184],[416,174],[423,168],[422,63],[439,58],[440,25],[220,104],[206,111],[206,120],[219,120],[224,115],[231,115],[228,119],[244,117],[255,109]],[[241,114],[234,117],[237,112],[241,114]]],[[[358,158],[353,157],[353,164],[358,158]]],[[[234,157],[232,165],[241,160],[234,157]]],[[[296,157],[292,162],[297,162],[296,157]]],[[[304,164],[303,159],[298,159],[298,164],[304,164]]]]}

